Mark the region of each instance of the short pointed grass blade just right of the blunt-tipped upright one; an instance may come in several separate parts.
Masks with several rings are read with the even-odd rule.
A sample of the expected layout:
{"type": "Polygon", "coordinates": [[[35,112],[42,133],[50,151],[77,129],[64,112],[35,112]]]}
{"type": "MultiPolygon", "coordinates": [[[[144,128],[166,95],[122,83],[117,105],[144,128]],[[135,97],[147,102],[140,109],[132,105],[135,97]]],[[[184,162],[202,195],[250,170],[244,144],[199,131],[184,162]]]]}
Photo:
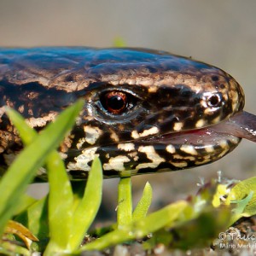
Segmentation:
{"type": "Polygon", "coordinates": [[[152,187],[149,183],[146,183],[145,188],[143,189],[143,196],[140,201],[137,203],[137,207],[132,213],[132,221],[137,221],[141,218],[145,218],[148,213],[148,208],[151,205],[152,201],[152,187]]]}

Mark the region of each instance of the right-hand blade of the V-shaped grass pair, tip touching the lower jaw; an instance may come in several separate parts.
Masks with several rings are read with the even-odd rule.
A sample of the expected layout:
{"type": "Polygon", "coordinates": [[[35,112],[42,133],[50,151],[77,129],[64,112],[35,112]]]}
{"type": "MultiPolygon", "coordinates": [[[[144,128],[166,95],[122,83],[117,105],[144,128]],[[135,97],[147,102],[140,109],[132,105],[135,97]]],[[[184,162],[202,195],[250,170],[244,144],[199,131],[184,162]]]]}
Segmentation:
{"type": "Polygon", "coordinates": [[[102,201],[102,183],[102,164],[96,158],[89,172],[84,197],[73,212],[73,236],[69,242],[73,250],[79,247],[90,224],[96,217],[102,201]]]}

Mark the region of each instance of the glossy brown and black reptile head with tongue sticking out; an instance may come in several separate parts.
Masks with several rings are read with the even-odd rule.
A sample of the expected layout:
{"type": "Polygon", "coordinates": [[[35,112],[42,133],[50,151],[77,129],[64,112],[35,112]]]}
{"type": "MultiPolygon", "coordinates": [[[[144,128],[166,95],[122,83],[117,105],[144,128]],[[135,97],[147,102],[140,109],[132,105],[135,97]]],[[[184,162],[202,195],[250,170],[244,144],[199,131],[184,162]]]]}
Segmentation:
{"type": "Polygon", "coordinates": [[[83,113],[60,148],[73,179],[95,155],[105,177],[131,176],[205,165],[241,137],[255,141],[241,86],[206,63],[151,49],[0,49],[1,165],[22,146],[4,105],[39,131],[79,98],[83,113]]]}

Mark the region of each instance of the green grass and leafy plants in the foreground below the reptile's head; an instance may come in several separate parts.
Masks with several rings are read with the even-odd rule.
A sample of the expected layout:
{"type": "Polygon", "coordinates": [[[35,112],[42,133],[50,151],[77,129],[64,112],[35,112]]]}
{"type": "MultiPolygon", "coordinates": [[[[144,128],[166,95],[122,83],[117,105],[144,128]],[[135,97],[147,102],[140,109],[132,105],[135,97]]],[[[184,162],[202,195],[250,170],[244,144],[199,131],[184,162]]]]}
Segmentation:
{"type": "Polygon", "coordinates": [[[82,106],[83,102],[78,102],[68,108],[39,135],[18,113],[8,110],[26,148],[0,182],[0,231],[5,238],[0,242],[0,253],[29,255],[29,250],[36,250],[44,255],[79,254],[142,241],[148,234],[150,238],[143,241],[145,249],[159,243],[182,249],[204,247],[236,219],[256,213],[256,177],[236,184],[230,182],[232,189],[230,183],[213,180],[189,200],[174,202],[149,214],[150,184],[146,183],[142,198],[133,210],[131,177],[123,177],[119,181],[117,223],[97,230],[101,234],[98,239],[80,247],[102,200],[102,166],[100,160],[94,160],[86,186],[85,182],[71,183],[55,148],[72,128],[82,106]],[[48,172],[49,195],[36,201],[24,191],[40,166],[45,166],[48,172]],[[10,218],[24,224],[30,232],[19,224],[10,224],[10,218]],[[21,240],[28,241],[29,249],[9,242],[15,238],[6,233],[19,231],[21,240]],[[36,243],[31,232],[39,239],[36,243]]]}

